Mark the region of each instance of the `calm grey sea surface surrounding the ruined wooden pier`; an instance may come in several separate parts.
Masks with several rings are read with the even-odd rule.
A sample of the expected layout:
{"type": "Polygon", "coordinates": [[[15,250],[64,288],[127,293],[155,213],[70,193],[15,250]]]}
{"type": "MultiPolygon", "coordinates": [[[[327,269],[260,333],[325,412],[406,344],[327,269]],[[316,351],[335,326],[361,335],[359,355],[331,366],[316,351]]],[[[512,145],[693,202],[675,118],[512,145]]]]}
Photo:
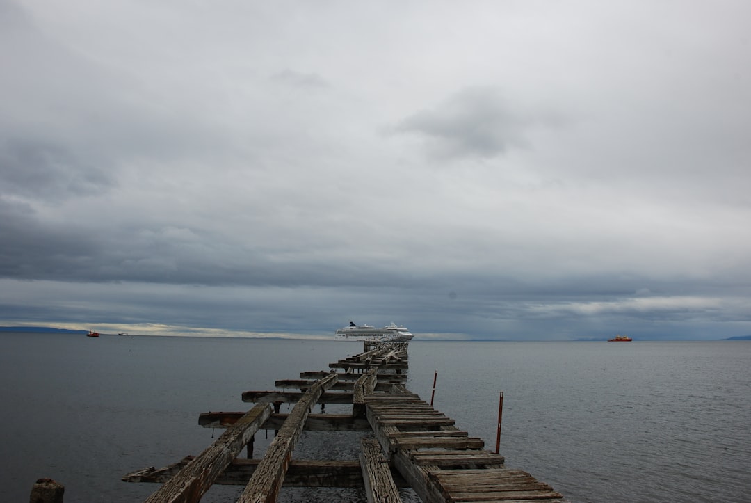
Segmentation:
{"type": "MultiPolygon", "coordinates": [[[[0,501],[29,501],[35,480],[51,477],[68,503],[143,501],[156,486],[120,478],[201,453],[214,439],[198,414],[246,411],[243,391],[361,350],[16,333],[0,333],[0,347],[0,501]]],[[[751,342],[412,341],[409,360],[409,389],[430,401],[437,371],[435,407],[490,450],[503,391],[506,465],[572,501],[751,501],[751,342]]],[[[346,435],[316,435],[303,435],[300,457],[355,459],[346,435]]],[[[256,436],[259,450],[270,441],[256,436]]],[[[204,501],[234,501],[240,489],[204,501]]],[[[283,499],[316,494],[285,489],[283,499]]],[[[350,489],[322,501],[362,498],[350,489]]]]}

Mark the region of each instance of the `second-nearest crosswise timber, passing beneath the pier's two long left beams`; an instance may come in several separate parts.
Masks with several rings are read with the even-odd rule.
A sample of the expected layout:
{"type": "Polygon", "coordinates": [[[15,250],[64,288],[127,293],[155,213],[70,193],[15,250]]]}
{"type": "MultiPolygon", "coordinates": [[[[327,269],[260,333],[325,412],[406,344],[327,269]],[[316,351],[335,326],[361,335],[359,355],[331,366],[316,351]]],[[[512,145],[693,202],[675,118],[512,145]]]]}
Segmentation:
{"type": "MultiPolygon", "coordinates": [[[[243,417],[244,412],[204,412],[198,417],[198,425],[204,428],[228,428],[243,417]]],[[[279,429],[289,414],[271,414],[261,429],[279,429]]],[[[311,432],[368,432],[370,423],[351,414],[309,414],[303,429],[311,432]]]]}

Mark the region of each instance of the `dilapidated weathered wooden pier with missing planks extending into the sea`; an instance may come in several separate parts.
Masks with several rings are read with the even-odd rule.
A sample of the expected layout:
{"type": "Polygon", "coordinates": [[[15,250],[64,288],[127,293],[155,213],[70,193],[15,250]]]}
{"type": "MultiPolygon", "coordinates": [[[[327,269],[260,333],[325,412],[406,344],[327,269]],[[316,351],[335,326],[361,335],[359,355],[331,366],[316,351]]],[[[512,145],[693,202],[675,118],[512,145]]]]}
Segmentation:
{"type": "Polygon", "coordinates": [[[422,501],[567,501],[530,474],[505,468],[499,454],[484,449],[454,420],[406,389],[407,343],[365,344],[363,353],[306,371],[299,380],[279,380],[288,391],[248,391],[247,412],[201,414],[199,424],[226,428],[200,456],[164,468],[125,475],[127,482],[163,483],[146,501],[200,501],[214,483],[245,486],[244,503],[276,501],[284,486],[363,487],[367,501],[403,501],[411,488],[422,501]],[[282,404],[295,404],[280,414],[282,404]],[[312,414],[316,404],[351,404],[348,414],[312,414]],[[254,435],[273,430],[263,457],[251,459],[254,435]],[[350,431],[358,459],[293,459],[303,430],[350,431]],[[249,459],[238,456],[246,449],[249,459]]]}

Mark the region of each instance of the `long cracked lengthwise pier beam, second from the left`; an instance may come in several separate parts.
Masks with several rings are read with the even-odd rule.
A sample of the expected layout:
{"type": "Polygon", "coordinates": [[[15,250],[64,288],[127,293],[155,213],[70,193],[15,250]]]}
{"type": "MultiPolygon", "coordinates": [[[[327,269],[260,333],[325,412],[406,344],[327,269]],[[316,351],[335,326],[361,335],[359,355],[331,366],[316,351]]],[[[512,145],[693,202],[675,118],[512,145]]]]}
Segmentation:
{"type": "Polygon", "coordinates": [[[238,503],[272,503],[276,501],[276,495],[284,481],[285,473],[292,459],[292,451],[300,438],[300,432],[310,414],[313,405],[321,398],[324,390],[336,383],[336,373],[324,377],[318,383],[311,386],[303,397],[297,401],[291,414],[276,437],[267,448],[264,459],[258,464],[255,473],[245,486],[238,503]]]}

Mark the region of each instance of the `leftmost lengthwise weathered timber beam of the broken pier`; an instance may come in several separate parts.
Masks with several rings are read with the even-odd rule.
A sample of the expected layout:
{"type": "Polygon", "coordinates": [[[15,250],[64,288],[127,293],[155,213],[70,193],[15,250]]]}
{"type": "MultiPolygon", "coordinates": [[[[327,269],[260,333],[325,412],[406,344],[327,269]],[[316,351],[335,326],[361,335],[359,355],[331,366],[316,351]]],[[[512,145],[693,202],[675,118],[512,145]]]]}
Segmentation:
{"type": "Polygon", "coordinates": [[[270,416],[270,405],[256,405],[146,501],[199,501],[270,416]]]}

